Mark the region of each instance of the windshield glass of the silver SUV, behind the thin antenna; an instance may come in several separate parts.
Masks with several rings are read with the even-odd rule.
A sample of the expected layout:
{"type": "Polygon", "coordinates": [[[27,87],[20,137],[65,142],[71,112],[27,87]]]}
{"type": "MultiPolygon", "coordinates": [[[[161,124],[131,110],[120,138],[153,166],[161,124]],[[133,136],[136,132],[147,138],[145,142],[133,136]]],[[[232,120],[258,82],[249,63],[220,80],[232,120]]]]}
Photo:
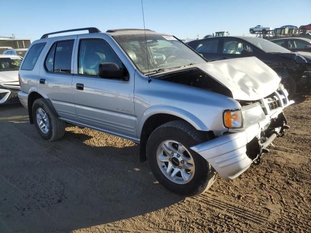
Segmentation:
{"type": "Polygon", "coordinates": [[[146,35],[149,59],[147,59],[144,34],[117,35],[114,38],[144,74],[149,71],[150,73],[161,72],[206,62],[200,55],[171,35],[146,35]]]}

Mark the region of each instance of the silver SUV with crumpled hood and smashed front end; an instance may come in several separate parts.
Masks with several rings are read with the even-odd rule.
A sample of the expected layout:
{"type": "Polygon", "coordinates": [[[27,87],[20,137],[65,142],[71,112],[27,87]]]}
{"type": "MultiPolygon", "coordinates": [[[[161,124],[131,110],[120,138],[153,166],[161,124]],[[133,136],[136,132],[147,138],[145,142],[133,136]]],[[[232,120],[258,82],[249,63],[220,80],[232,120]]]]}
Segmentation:
{"type": "Polygon", "coordinates": [[[26,53],[18,97],[49,141],[66,122],[140,144],[159,183],[182,195],[238,177],[286,125],[293,103],[255,57],[207,62],[172,35],[121,29],[49,38],[26,53]]]}

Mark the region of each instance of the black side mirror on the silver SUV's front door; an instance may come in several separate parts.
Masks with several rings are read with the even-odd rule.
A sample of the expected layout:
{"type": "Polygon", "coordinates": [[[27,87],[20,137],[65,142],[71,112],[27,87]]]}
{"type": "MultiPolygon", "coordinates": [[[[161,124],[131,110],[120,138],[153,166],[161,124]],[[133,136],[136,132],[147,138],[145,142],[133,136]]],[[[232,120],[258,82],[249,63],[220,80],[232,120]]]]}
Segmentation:
{"type": "Polygon", "coordinates": [[[116,63],[101,63],[98,67],[98,76],[104,79],[120,79],[128,81],[128,76],[123,68],[116,63]]]}

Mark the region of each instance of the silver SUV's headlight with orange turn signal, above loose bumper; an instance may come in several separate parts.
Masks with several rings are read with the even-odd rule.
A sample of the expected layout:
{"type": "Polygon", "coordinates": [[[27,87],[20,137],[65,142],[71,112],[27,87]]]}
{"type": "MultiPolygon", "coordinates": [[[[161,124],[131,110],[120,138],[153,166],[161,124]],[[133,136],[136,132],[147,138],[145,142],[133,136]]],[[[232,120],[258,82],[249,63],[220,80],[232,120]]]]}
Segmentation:
{"type": "Polygon", "coordinates": [[[226,110],[224,112],[224,125],[229,129],[247,128],[265,118],[259,103],[255,103],[244,106],[241,110],[226,110]]]}

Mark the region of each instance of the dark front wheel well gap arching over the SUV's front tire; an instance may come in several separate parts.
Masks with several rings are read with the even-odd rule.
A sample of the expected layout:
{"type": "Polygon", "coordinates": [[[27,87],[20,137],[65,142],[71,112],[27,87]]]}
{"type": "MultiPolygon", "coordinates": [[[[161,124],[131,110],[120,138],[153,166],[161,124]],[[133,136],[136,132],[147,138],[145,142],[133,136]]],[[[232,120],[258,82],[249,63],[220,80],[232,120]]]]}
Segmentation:
{"type": "MultiPolygon", "coordinates": [[[[183,120],[187,122],[186,120],[170,115],[170,114],[155,114],[153,116],[150,116],[144,123],[141,133],[140,133],[140,147],[139,147],[139,160],[140,162],[146,161],[146,146],[147,141],[150,136],[150,134],[160,125],[163,125],[167,122],[173,121],[173,120],[183,120]]],[[[189,123],[189,122],[187,122],[189,123]]],[[[208,133],[208,132],[207,132],[208,133]]]]}

